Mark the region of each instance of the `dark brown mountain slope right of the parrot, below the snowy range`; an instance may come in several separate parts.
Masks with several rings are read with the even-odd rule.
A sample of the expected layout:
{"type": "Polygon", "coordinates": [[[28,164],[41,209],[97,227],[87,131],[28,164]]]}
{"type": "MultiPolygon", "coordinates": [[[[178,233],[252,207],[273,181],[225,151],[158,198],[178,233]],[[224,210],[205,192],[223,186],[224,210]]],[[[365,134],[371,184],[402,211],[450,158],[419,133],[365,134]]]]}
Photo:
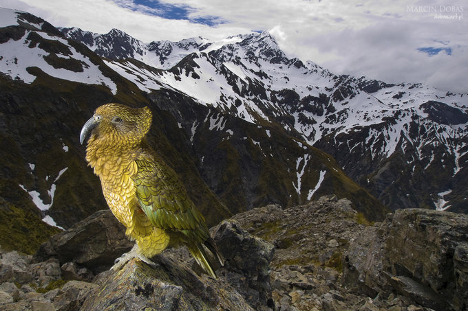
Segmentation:
{"type": "MultiPolygon", "coordinates": [[[[385,218],[387,209],[341,174],[336,162],[320,150],[276,128],[259,128],[215,108],[197,105],[172,91],[154,92],[150,97],[158,108],[170,113],[180,124],[184,135],[190,139],[187,150],[201,159],[198,168],[202,178],[233,214],[268,204],[291,207],[307,202],[310,197],[305,189],[317,186],[320,172],[326,171],[312,199],[334,193],[349,198],[352,206],[369,219],[385,218]],[[299,174],[296,170],[304,170],[299,177],[301,189],[296,186],[299,174]]],[[[175,133],[168,130],[164,134],[172,138],[175,133]]],[[[180,137],[173,137],[173,141],[175,139],[180,137]]]]}

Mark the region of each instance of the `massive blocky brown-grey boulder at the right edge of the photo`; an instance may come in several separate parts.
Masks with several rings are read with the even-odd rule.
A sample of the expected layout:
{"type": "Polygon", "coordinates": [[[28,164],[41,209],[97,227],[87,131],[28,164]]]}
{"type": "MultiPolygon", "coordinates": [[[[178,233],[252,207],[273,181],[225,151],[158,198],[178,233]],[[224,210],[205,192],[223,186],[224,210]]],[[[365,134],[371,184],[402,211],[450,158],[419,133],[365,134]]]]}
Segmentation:
{"type": "Polygon", "coordinates": [[[405,280],[410,289],[405,295],[417,303],[429,308],[466,310],[467,232],[468,216],[464,214],[400,209],[390,225],[383,256],[384,269],[397,279],[405,280]],[[429,303],[434,297],[442,301],[436,299],[435,305],[429,303]]]}

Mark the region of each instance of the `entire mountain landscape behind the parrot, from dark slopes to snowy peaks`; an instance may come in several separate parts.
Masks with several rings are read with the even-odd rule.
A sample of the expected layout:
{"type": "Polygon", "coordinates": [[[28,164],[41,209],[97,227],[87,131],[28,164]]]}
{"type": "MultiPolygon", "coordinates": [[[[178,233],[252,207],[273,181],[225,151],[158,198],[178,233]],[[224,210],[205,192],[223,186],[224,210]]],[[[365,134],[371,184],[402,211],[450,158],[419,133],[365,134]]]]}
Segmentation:
{"type": "Polygon", "coordinates": [[[32,253],[107,207],[78,141],[107,102],[151,108],[149,143],[209,225],[327,194],[368,220],[468,212],[467,94],[337,76],[267,32],[142,43],[0,9],[2,247],[32,253]]]}

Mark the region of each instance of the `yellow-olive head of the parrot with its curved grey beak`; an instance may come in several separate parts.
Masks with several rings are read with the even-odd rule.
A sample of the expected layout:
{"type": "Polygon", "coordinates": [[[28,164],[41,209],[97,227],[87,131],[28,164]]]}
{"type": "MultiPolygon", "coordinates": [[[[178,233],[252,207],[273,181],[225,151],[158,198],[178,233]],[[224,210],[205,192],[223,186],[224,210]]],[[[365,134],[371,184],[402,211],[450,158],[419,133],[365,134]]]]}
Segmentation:
{"type": "Polygon", "coordinates": [[[100,141],[107,146],[140,143],[149,131],[151,120],[152,114],[148,107],[105,104],[99,106],[81,128],[80,142],[83,144],[89,137],[89,141],[100,141]]]}

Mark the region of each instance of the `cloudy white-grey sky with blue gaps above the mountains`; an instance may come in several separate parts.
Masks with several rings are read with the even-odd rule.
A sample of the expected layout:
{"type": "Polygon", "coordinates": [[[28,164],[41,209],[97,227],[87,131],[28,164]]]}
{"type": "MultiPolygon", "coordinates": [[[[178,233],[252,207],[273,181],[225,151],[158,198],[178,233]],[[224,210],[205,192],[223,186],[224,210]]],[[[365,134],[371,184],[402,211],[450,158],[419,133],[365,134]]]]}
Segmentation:
{"type": "Polygon", "coordinates": [[[468,93],[466,0],[0,0],[55,26],[144,42],[269,31],[333,73],[468,93]]]}

